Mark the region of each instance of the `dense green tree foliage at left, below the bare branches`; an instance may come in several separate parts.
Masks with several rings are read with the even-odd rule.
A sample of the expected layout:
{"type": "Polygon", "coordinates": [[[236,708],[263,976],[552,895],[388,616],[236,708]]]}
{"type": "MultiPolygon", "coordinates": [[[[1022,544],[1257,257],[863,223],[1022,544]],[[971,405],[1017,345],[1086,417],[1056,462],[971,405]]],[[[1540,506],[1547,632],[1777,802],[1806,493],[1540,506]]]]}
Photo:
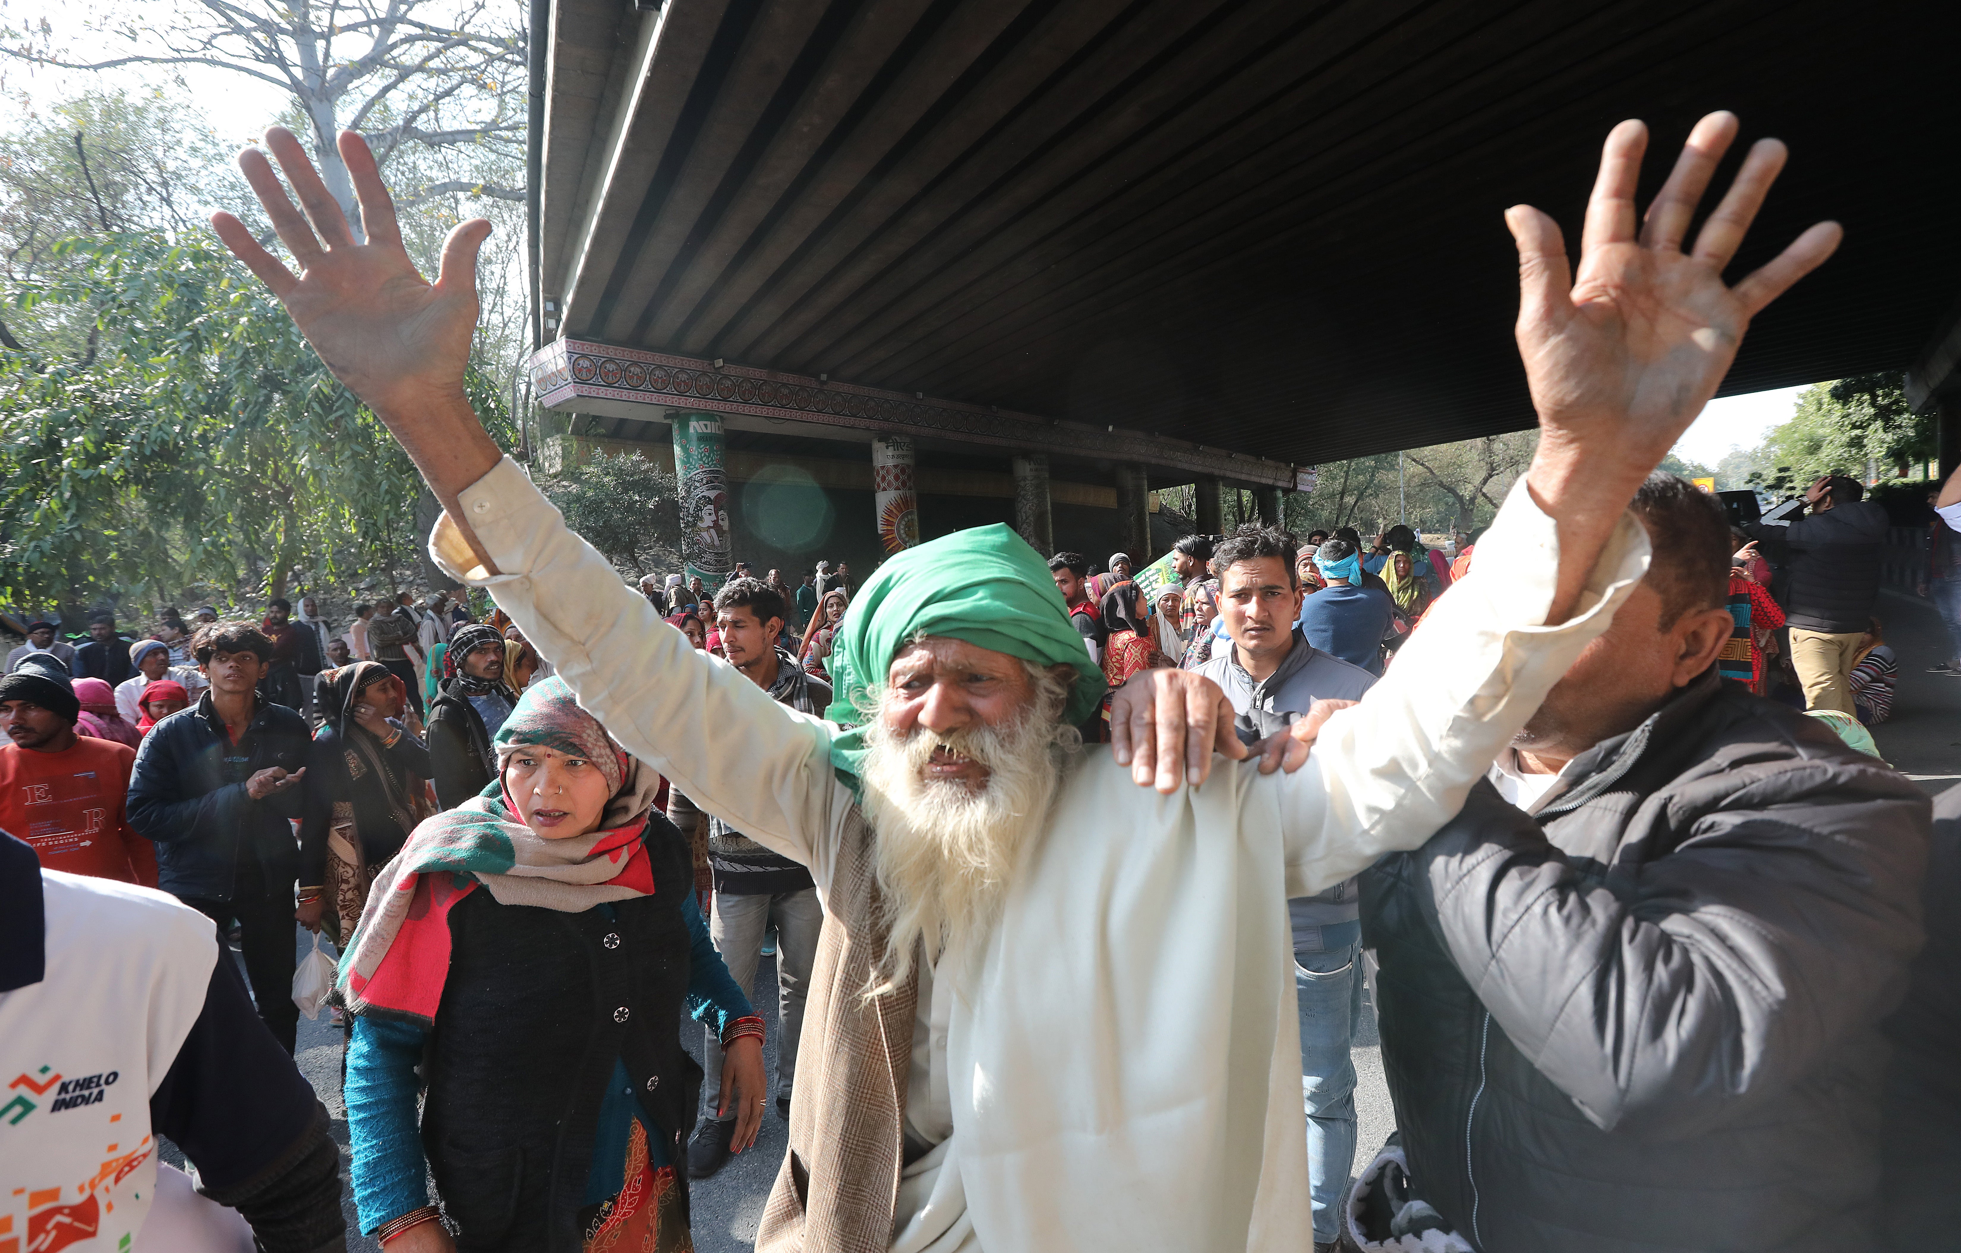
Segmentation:
{"type": "MultiPolygon", "coordinates": [[[[92,355],[0,355],[0,594],[65,608],[294,573],[353,582],[414,543],[414,465],[208,233],[57,245],[12,306],[92,355]]],[[[498,388],[473,400],[508,445],[498,388]]]]}

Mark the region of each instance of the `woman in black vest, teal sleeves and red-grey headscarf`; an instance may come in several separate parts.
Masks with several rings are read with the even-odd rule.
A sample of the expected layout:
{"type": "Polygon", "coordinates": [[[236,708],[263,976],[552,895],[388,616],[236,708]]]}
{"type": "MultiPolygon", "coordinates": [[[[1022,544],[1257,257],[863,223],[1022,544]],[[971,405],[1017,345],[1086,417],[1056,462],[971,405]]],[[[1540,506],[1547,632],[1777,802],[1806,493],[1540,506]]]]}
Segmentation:
{"type": "Polygon", "coordinates": [[[680,1010],[722,1039],[739,1147],[767,1100],[763,1020],[649,812],[659,777],[565,680],[524,694],[496,751],[500,792],[416,827],[341,959],[361,1229],[390,1253],[684,1253],[702,1071],[680,1010]]]}

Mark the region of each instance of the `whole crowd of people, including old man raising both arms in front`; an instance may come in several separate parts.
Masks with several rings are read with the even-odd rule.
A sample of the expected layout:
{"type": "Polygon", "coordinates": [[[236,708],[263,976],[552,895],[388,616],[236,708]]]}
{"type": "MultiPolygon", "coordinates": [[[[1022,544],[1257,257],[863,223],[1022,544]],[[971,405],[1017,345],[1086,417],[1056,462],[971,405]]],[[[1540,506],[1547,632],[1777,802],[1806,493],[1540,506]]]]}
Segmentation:
{"type": "MultiPolygon", "coordinates": [[[[1812,714],[1883,714],[1857,484],[1749,543],[1655,473],[1837,241],[1724,282],[1767,141],[1683,251],[1735,125],[1698,124],[1639,233],[1645,131],[1614,129],[1579,286],[1551,220],[1508,214],[1543,437],[1455,555],[1245,526],[1092,569],[984,526],[863,586],[718,588],[624,586],[567,531],[463,398],[469,284],[404,276],[359,137],[361,245],[273,129],[306,216],[241,165],[304,276],[216,224],[361,361],[457,590],[341,635],[306,600],[151,641],[27,624],[0,1169],[29,1239],[345,1245],[288,1057],[298,924],[339,947],[347,1186],[390,1253],[682,1253],[688,1180],[773,1104],[769,1251],[1951,1243],[1961,931],[1924,894],[1961,890],[1961,794],[1930,812],[1761,694],[1786,657],[1812,714]],[[1398,1129],[1351,1186],[1365,953],[1398,1129]]],[[[1961,478],[1936,504],[1961,524],[1961,478]]]]}

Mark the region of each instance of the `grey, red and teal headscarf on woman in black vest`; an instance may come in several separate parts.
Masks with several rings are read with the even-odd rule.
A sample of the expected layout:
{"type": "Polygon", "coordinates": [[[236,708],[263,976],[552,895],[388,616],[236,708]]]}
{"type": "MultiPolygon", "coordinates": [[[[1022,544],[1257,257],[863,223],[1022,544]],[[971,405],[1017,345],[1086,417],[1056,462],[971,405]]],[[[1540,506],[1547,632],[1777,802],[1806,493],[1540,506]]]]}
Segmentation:
{"type": "Polygon", "coordinates": [[[449,910],[486,888],[498,904],[582,914],[653,894],[641,833],[661,777],[622,751],[573,688],[553,675],[531,686],[496,733],[498,790],[416,827],[369,892],[341,957],[339,988],[355,1014],[431,1024],[449,973],[449,910]],[[526,745],[582,757],[612,788],[596,829],[545,839],[520,818],[506,784],[526,745]]]}

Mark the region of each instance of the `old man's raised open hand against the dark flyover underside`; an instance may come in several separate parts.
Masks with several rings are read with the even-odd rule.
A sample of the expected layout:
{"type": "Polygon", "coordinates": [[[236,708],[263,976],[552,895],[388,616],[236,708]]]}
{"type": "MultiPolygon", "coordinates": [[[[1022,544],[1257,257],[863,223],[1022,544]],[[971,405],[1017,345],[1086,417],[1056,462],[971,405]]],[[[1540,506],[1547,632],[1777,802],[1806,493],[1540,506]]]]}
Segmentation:
{"type": "Polygon", "coordinates": [[[1683,251],[1735,131],[1728,112],[1696,124],[1635,233],[1647,127],[1616,125],[1586,204],[1579,276],[1551,218],[1526,204],[1506,212],[1518,243],[1518,351],[1541,441],[1553,451],[1577,445],[1645,476],[1716,394],[1749,320],[1837,247],[1839,226],[1820,222],[1735,286],[1724,282],[1724,267],[1785,167],[1785,145],[1759,139],[1694,249],[1683,251]]]}

